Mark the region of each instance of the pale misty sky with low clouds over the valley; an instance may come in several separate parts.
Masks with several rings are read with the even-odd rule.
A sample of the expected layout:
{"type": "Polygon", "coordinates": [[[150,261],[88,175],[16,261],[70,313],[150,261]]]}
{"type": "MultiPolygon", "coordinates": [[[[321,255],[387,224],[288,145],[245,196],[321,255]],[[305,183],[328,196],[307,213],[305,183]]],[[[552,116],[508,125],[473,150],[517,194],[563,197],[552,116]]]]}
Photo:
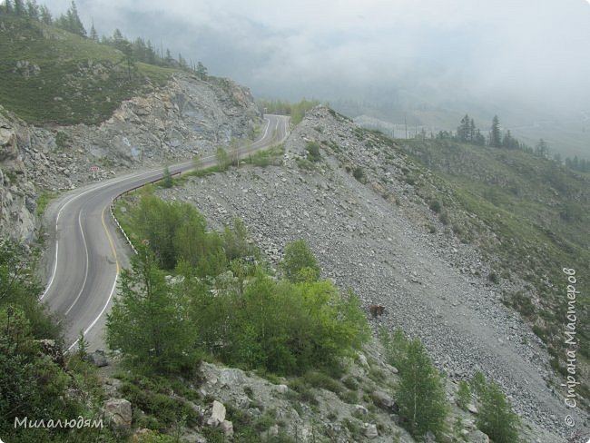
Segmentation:
{"type": "MultiPolygon", "coordinates": [[[[49,0],[58,15],[69,0],[49,0]]],[[[78,0],[84,25],[202,61],[259,97],[588,109],[586,0],[78,0]]]]}

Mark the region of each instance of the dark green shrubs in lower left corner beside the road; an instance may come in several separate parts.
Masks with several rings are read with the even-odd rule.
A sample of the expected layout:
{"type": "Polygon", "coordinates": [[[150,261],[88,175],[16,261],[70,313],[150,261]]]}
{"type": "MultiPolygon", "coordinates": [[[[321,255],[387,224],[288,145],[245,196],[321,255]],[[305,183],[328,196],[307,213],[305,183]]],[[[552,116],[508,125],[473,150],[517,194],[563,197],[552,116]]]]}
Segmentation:
{"type": "Polygon", "coordinates": [[[62,330],[38,298],[37,252],[0,241],[0,436],[12,442],[116,441],[104,428],[15,427],[15,418],[45,426],[58,420],[98,421],[102,388],[96,368],[77,353],[63,354],[62,330]]]}

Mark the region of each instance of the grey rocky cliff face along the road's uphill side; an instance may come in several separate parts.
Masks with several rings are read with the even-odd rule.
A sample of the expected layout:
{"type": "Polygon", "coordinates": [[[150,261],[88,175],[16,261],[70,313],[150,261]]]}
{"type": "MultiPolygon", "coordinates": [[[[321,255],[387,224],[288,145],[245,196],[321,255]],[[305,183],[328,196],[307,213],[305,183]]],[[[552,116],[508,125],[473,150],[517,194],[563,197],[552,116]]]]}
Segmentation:
{"type": "Polygon", "coordinates": [[[165,87],[123,102],[98,126],[35,127],[0,106],[0,235],[34,239],[42,192],[206,155],[251,137],[260,123],[247,89],[190,74],[174,74],[165,87]]]}

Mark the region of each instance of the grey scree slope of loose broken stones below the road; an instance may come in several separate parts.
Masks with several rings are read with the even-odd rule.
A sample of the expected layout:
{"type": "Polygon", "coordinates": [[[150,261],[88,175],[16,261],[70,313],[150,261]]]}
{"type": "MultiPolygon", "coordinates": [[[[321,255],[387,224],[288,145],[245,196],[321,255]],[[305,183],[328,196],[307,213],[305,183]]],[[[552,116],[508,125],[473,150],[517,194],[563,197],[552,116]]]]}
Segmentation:
{"type": "Polygon", "coordinates": [[[530,441],[565,441],[566,414],[583,426],[585,414],[548,387],[546,348],[502,303],[489,262],[417,191],[416,180],[434,182],[430,172],[325,107],[308,114],[285,149],[280,166],[192,177],[161,195],[192,202],[218,225],[241,217],[273,262],[286,242],[306,239],[325,277],[385,306],[376,329],[419,337],[450,379],[483,370],[521,416],[553,434],[530,441]],[[320,162],[305,159],[310,142],[320,143],[320,162]]]}

